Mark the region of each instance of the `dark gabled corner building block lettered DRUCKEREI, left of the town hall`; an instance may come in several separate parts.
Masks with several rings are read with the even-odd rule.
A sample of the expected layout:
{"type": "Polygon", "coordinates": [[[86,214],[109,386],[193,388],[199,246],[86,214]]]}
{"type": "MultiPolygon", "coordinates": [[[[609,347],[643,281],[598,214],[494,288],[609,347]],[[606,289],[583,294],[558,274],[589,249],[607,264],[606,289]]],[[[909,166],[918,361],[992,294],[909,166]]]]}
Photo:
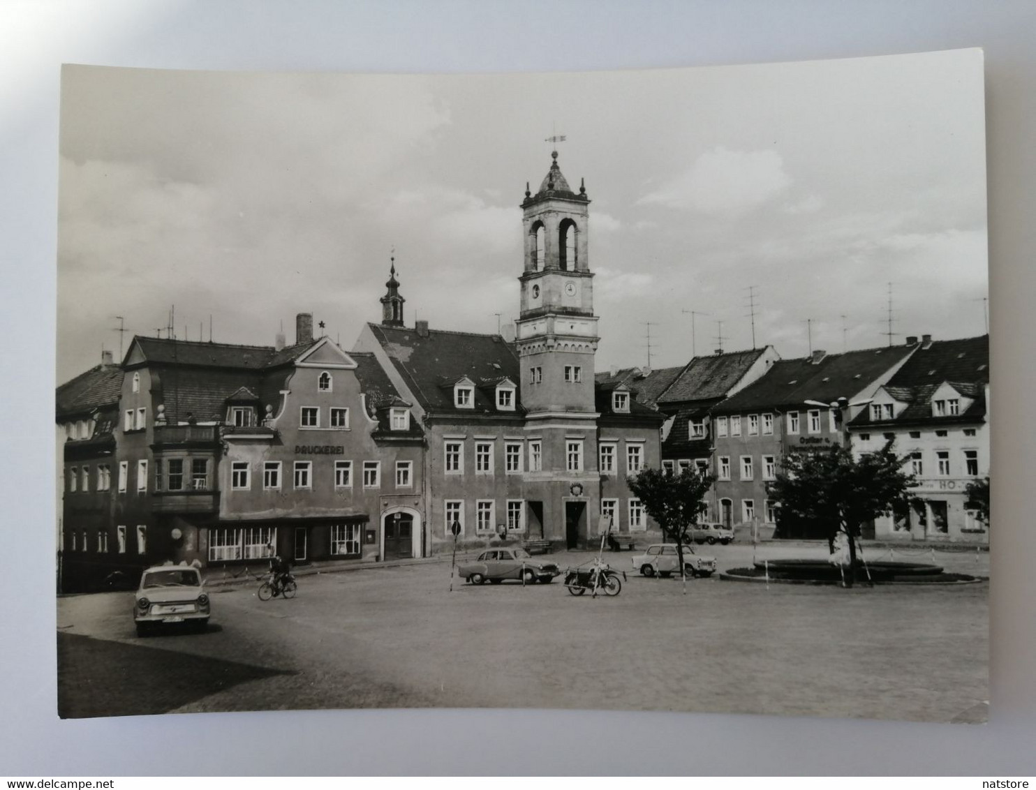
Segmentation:
{"type": "Polygon", "coordinates": [[[120,365],[58,388],[57,419],[66,590],[167,560],[421,552],[420,425],[377,361],[313,338],[309,314],[287,347],[137,337],[120,365]]]}

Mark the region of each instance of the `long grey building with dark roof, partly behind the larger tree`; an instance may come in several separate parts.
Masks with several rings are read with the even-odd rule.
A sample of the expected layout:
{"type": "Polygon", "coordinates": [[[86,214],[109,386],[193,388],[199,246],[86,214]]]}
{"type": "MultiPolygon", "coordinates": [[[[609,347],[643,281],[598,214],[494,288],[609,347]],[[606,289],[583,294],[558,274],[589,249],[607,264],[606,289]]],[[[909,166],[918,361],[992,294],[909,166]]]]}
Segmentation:
{"type": "Polygon", "coordinates": [[[917,350],[916,343],[781,359],[765,376],[710,410],[717,476],[712,517],[733,525],[779,527],[782,537],[808,537],[808,524],[780,520],[767,485],[789,453],[823,450],[844,441],[852,419],[917,350]],[[838,405],[845,399],[846,414],[838,405]]]}

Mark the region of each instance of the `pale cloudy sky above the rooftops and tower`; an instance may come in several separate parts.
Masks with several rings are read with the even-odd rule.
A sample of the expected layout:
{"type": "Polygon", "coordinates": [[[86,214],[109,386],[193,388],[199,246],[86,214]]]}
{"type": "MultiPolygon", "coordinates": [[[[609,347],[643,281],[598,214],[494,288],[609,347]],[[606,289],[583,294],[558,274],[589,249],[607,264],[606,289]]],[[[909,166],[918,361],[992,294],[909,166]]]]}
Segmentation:
{"type": "Polygon", "coordinates": [[[514,76],[66,66],[58,381],[154,335],[274,343],[312,312],[349,348],[395,248],[406,319],[517,317],[525,182],[591,204],[598,369],[694,345],[784,357],[985,331],[978,50],[514,76]],[[704,315],[708,314],[708,315],[704,315]]]}

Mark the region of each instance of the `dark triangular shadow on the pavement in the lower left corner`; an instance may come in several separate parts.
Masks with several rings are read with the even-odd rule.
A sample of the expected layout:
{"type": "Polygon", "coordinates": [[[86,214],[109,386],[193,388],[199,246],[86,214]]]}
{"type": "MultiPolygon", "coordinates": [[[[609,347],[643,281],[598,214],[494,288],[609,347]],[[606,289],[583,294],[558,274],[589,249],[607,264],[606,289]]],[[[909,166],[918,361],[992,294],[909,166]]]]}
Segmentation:
{"type": "Polygon", "coordinates": [[[284,672],[58,633],[58,715],[148,715],[284,672]]]}

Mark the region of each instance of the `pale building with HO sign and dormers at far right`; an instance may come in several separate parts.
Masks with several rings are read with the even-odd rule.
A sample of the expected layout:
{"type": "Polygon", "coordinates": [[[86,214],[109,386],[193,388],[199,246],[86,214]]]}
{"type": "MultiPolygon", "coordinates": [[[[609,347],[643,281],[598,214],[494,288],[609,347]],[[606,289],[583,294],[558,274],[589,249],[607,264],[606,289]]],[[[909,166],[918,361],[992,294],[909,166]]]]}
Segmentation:
{"type": "MultiPolygon", "coordinates": [[[[913,340],[913,339],[911,339],[913,340]]],[[[856,453],[890,440],[909,457],[921,509],[877,519],[881,538],[986,543],[967,488],[989,474],[989,335],[932,341],[879,387],[847,423],[856,453]]]]}

